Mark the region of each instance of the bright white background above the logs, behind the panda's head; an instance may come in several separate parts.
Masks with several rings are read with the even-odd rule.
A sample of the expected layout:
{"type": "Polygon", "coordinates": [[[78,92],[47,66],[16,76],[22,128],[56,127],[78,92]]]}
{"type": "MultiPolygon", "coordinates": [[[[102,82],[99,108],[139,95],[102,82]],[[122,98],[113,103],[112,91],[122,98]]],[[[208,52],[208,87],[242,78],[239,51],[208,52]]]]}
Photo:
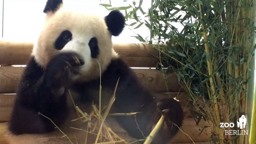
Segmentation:
{"type": "MultiPolygon", "coordinates": [[[[2,14],[1,4],[3,0],[0,0],[0,32],[2,29],[2,14]]],[[[4,0],[4,40],[13,41],[35,41],[40,29],[43,25],[45,14],[43,9],[47,0],[4,0]]],[[[123,0],[111,0],[112,6],[128,6],[133,0],[124,2],[123,0]]],[[[139,0],[135,0],[139,4],[139,0]]],[[[99,4],[109,4],[109,0],[63,0],[65,5],[70,5],[78,9],[83,9],[88,12],[94,12],[99,16],[106,16],[109,11],[105,7],[99,4]]],[[[151,0],[143,1],[143,9],[150,7],[151,0]]],[[[128,22],[129,23],[129,22],[128,22]]],[[[149,31],[146,27],[140,27],[135,31],[124,28],[123,33],[118,36],[113,36],[114,43],[139,43],[139,41],[132,37],[135,33],[142,34],[142,37],[149,35],[149,31]]],[[[0,37],[2,33],[0,34],[0,37]]]]}

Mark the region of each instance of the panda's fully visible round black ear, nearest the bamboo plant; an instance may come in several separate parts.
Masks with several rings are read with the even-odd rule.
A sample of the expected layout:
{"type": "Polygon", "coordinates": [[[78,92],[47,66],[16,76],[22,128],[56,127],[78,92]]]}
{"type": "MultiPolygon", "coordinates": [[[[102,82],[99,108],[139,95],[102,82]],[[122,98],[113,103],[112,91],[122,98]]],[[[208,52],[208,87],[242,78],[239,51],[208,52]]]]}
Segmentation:
{"type": "Polygon", "coordinates": [[[113,36],[118,36],[124,29],[124,15],[120,11],[111,11],[108,16],[105,17],[105,22],[108,26],[108,31],[110,31],[113,36]]]}

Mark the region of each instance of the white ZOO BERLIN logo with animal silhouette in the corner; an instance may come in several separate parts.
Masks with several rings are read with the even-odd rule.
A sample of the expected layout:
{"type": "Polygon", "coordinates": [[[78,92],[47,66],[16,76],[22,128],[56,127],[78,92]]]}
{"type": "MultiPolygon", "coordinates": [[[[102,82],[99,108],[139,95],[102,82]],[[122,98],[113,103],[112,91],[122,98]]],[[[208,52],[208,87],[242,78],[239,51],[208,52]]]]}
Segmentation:
{"type": "MultiPolygon", "coordinates": [[[[236,120],[237,128],[240,128],[241,130],[225,130],[225,135],[248,135],[248,130],[242,130],[245,128],[246,125],[246,117],[245,115],[242,115],[239,119],[236,120]]],[[[220,122],[220,128],[234,128],[233,122],[220,122]]]]}

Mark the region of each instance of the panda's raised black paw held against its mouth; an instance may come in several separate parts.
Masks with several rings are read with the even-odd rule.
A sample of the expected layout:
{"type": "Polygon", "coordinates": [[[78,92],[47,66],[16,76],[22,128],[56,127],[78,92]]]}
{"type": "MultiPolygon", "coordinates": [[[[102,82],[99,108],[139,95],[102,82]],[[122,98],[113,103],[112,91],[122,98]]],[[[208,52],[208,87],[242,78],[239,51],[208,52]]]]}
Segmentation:
{"type": "Polygon", "coordinates": [[[70,85],[72,75],[79,74],[79,66],[83,64],[83,59],[75,52],[58,54],[46,67],[47,85],[57,88],[70,85]]]}

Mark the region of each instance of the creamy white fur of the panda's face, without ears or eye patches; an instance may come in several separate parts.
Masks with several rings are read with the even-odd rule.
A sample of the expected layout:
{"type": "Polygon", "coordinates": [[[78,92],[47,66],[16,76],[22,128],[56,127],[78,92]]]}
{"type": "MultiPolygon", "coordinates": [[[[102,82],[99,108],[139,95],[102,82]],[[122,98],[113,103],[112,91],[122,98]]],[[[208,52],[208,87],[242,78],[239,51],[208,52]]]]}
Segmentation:
{"type": "Polygon", "coordinates": [[[85,64],[81,66],[81,75],[74,79],[87,81],[99,77],[97,61],[100,63],[101,72],[104,72],[110,60],[118,57],[113,49],[111,37],[112,34],[108,31],[104,18],[61,5],[56,13],[53,14],[51,11],[47,13],[45,25],[34,45],[32,56],[42,67],[45,67],[49,60],[60,52],[77,52],[83,57],[85,64]],[[72,40],[63,49],[54,49],[54,41],[65,29],[73,34],[72,40]],[[93,37],[97,38],[100,47],[97,59],[91,58],[88,46],[89,40],[93,37]]]}

